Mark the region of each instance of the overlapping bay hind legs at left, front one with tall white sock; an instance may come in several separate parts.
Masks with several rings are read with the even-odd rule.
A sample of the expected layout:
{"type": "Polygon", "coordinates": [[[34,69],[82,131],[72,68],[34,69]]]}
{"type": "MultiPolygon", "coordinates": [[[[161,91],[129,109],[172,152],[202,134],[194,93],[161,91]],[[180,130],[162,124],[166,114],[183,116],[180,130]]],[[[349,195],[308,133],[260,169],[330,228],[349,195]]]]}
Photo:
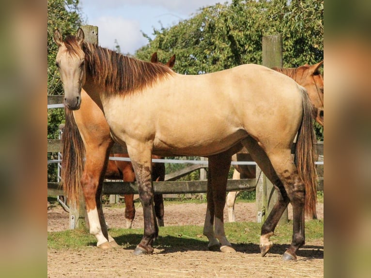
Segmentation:
{"type": "Polygon", "coordinates": [[[90,233],[96,237],[98,241],[97,246],[106,249],[117,245],[108,234],[101,202],[103,179],[107,168],[110,144],[101,145],[97,148],[90,147],[86,149],[86,161],[81,177],[81,185],[85,197],[90,233]]]}

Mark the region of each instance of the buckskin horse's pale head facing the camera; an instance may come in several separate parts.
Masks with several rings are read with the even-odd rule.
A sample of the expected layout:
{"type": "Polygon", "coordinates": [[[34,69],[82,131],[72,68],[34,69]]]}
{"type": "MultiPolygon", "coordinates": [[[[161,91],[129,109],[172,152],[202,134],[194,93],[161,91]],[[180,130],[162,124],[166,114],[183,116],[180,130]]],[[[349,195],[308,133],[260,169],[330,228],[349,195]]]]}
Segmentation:
{"type": "Polygon", "coordinates": [[[58,45],[56,65],[64,89],[64,104],[71,110],[77,110],[81,104],[81,88],[85,83],[85,54],[82,50],[84,31],[78,28],[76,36],[68,36],[65,41],[57,29],[54,41],[58,45]]]}

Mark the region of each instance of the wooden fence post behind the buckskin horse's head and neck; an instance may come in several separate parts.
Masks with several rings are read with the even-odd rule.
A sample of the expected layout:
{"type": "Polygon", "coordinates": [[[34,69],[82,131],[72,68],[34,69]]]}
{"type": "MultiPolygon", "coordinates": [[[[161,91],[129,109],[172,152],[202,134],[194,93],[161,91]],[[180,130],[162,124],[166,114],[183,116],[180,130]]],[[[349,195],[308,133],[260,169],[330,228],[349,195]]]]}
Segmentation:
{"type": "MultiPolygon", "coordinates": [[[[85,41],[89,43],[98,43],[98,27],[92,25],[81,26],[85,34],[85,41]]],[[[70,203],[70,229],[87,227],[89,228],[89,221],[86,215],[85,199],[80,187],[79,203],[70,203]]]]}

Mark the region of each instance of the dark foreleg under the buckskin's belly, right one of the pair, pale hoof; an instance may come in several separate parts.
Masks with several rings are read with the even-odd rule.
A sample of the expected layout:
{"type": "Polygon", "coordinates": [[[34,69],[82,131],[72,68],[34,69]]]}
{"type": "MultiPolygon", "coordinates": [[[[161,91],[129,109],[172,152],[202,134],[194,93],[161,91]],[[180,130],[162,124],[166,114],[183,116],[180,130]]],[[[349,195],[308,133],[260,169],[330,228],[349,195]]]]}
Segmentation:
{"type": "Polygon", "coordinates": [[[235,252],[225,236],[223,216],[230,167],[231,154],[229,153],[216,154],[209,157],[209,174],[212,177],[210,185],[213,190],[212,198],[215,213],[214,234],[220,242],[220,250],[222,252],[235,252]]]}

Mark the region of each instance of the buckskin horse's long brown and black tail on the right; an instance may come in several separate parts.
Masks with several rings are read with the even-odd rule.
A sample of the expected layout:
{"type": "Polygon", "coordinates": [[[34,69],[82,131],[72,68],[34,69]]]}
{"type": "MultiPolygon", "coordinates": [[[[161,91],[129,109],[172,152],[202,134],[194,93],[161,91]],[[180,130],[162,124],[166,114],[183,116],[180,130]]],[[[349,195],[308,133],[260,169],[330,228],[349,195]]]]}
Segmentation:
{"type": "Polygon", "coordinates": [[[306,90],[300,86],[303,96],[303,120],[298,131],[295,151],[295,165],[305,184],[305,212],[313,215],[317,203],[317,171],[315,167],[317,142],[313,123],[312,105],[306,90]]]}

